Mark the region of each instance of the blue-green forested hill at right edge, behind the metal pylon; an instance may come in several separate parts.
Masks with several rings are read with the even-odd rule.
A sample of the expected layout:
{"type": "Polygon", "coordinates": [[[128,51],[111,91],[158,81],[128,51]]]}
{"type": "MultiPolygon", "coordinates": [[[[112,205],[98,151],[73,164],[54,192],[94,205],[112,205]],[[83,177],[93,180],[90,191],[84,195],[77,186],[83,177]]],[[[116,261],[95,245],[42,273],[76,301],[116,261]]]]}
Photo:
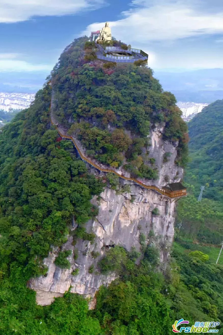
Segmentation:
{"type": "Polygon", "coordinates": [[[188,124],[190,163],[185,181],[195,187],[205,186],[204,197],[223,202],[223,100],[205,107],[188,124]]]}

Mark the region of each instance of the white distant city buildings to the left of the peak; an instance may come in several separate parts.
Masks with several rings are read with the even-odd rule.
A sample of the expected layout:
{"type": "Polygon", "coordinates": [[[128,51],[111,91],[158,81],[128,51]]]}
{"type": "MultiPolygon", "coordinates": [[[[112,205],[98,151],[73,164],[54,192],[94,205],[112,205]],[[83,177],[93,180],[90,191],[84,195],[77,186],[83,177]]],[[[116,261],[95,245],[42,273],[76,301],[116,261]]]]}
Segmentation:
{"type": "Polygon", "coordinates": [[[0,92],[0,110],[10,112],[28,108],[35,94],[0,92]]]}

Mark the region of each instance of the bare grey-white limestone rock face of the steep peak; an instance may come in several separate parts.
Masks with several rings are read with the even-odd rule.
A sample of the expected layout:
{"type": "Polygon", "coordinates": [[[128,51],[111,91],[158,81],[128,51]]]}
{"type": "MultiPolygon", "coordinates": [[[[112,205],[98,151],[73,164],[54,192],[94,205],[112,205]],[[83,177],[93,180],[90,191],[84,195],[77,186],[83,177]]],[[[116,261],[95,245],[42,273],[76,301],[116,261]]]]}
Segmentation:
{"type": "MultiPolygon", "coordinates": [[[[167,182],[178,182],[182,178],[183,170],[174,164],[176,158],[176,146],[162,140],[163,128],[156,128],[151,133],[150,155],[156,159],[159,169],[157,186],[164,186],[167,182]],[[164,153],[170,152],[169,161],[163,163],[164,153]]],[[[131,247],[140,250],[140,234],[144,234],[149,242],[150,231],[153,231],[153,243],[160,250],[161,267],[165,267],[170,246],[174,236],[175,200],[168,199],[153,190],[144,189],[133,182],[120,179],[121,183],[129,184],[130,192],[117,194],[115,190],[106,186],[100,194],[100,200],[94,197],[93,204],[99,206],[99,213],[95,220],[86,223],[86,231],[95,234],[93,244],[88,241],[78,240],[72,245],[72,237],[69,236],[64,249],[72,250],[69,256],[71,267],[62,270],[55,266],[54,260],[58,254],[58,248],[54,248],[44,260],[48,267],[46,276],[32,278],[28,285],[37,293],[37,303],[48,305],[54,297],[62,296],[70,287],[73,293],[84,294],[86,297],[94,297],[101,285],[107,285],[116,278],[115,273],[108,276],[101,275],[97,269],[97,263],[105,255],[107,249],[114,245],[123,246],[130,251],[131,247]],[[154,208],[158,208],[159,215],[152,214],[154,208]],[[74,260],[74,248],[78,251],[78,257],[74,260]],[[94,253],[92,253],[94,252],[94,253]],[[92,257],[98,253],[96,258],[92,257]],[[90,266],[94,265],[93,273],[89,273],[90,266]],[[75,269],[79,269],[77,275],[72,275],[75,269]]],[[[75,229],[75,227],[73,228],[75,229]]],[[[151,241],[150,241],[151,242],[151,241]]],[[[92,308],[94,299],[91,300],[92,308]]]]}

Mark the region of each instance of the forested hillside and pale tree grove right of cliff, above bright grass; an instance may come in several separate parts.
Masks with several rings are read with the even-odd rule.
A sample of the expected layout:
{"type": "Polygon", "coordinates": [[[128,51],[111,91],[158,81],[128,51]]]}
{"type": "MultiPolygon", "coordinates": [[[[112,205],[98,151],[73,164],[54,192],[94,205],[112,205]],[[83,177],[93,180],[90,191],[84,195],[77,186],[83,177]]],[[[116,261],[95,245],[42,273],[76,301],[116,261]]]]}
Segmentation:
{"type": "Polygon", "coordinates": [[[177,229],[181,237],[219,246],[223,241],[223,100],[205,107],[189,123],[189,163],[184,181],[190,194],[179,201],[177,229]],[[202,202],[197,198],[205,186],[202,202]]]}

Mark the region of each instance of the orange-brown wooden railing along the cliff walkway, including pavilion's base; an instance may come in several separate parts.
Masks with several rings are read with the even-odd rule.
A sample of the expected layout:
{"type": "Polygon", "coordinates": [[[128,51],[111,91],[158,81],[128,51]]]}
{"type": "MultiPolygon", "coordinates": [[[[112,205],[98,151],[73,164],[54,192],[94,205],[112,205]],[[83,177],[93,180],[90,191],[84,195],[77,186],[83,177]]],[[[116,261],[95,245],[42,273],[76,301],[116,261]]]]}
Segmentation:
{"type": "Polygon", "coordinates": [[[157,187],[155,185],[146,185],[146,184],[143,184],[142,182],[140,182],[139,180],[137,180],[137,179],[135,179],[133,177],[122,176],[118,172],[116,172],[115,170],[112,170],[112,169],[103,169],[101,166],[93,163],[90,159],[88,159],[87,157],[85,157],[81,153],[81,151],[80,151],[77,143],[75,142],[73,136],[62,134],[59,131],[59,129],[56,126],[56,124],[53,123],[52,118],[51,118],[51,124],[56,127],[56,130],[57,130],[57,132],[58,132],[58,134],[60,135],[61,138],[65,138],[65,139],[71,140],[73,142],[73,145],[75,146],[75,148],[76,148],[77,152],[79,153],[81,159],[83,159],[85,162],[87,162],[90,165],[92,165],[93,167],[95,167],[95,169],[97,169],[99,171],[102,171],[102,172],[114,173],[119,178],[122,178],[122,179],[125,179],[125,180],[131,180],[131,181],[135,182],[136,184],[138,184],[138,185],[140,185],[140,186],[142,186],[142,187],[144,187],[144,188],[146,188],[148,190],[157,191],[158,193],[160,193],[160,194],[162,194],[162,195],[164,195],[164,196],[166,196],[168,198],[177,198],[177,197],[182,197],[182,196],[187,195],[186,189],[179,190],[179,191],[169,191],[169,190],[167,190],[165,188],[159,188],[159,187],[157,187]]]}

